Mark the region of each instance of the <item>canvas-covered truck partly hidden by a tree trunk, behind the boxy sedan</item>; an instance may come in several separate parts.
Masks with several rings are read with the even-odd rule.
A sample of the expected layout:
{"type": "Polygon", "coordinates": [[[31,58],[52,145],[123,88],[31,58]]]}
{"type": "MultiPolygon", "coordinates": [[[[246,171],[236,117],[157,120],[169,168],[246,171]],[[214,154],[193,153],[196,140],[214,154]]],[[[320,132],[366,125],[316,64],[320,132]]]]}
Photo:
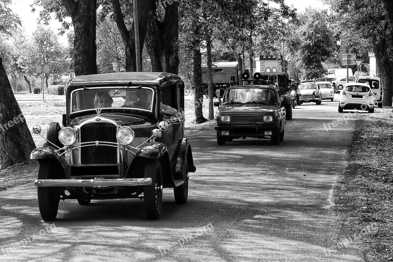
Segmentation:
{"type": "MultiPolygon", "coordinates": [[[[202,68],[202,83],[204,94],[208,95],[208,71],[207,67],[202,68]]],[[[239,81],[239,63],[238,62],[214,62],[212,63],[213,75],[213,93],[220,89],[220,96],[222,97],[226,87],[239,81]]]]}

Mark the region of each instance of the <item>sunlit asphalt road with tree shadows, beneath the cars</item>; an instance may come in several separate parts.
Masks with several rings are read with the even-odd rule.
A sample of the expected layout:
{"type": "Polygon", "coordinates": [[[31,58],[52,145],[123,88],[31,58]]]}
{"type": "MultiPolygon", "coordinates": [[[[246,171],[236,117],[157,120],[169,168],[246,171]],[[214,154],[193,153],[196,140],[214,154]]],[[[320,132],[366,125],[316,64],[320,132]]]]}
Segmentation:
{"type": "Polygon", "coordinates": [[[68,200],[51,225],[32,183],[3,191],[0,261],[363,261],[350,246],[326,250],[337,242],[331,197],[356,118],[332,130],[324,123],[342,116],[337,99],[299,106],[280,146],[217,146],[213,129],[191,135],[197,172],[189,201],[176,205],[164,190],[158,221],[145,219],[140,200],[68,200]]]}

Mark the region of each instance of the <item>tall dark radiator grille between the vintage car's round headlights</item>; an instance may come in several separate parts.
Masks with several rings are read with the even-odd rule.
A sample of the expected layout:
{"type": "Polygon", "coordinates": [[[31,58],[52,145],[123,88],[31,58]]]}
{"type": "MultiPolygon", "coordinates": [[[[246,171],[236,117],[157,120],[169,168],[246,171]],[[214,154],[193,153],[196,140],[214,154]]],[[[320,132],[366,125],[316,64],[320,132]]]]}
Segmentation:
{"type": "MultiPolygon", "coordinates": [[[[114,142],[116,143],[116,126],[111,123],[88,123],[81,127],[81,143],[114,142]]],[[[81,164],[116,164],[117,148],[112,146],[85,146],[80,151],[81,164]]]]}

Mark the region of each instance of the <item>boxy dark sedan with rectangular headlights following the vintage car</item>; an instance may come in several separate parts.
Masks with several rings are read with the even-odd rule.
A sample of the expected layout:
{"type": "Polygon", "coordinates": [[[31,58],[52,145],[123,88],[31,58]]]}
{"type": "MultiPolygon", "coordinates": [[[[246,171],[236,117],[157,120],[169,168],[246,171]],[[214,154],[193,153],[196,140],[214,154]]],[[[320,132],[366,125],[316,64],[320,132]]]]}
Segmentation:
{"type": "Polygon", "coordinates": [[[273,145],[284,141],[285,106],[291,98],[279,95],[272,85],[235,86],[225,90],[216,114],[217,144],[233,139],[265,138],[273,145]]]}

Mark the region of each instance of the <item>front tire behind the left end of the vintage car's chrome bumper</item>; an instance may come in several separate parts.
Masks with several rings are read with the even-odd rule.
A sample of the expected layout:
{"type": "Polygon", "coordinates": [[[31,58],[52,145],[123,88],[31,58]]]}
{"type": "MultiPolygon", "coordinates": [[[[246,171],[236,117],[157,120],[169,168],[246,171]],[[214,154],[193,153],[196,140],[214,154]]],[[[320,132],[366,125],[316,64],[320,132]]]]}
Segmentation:
{"type": "MultiPolygon", "coordinates": [[[[63,173],[60,163],[56,160],[41,160],[38,179],[54,179],[54,175],[63,173]]],[[[56,219],[60,192],[56,187],[37,187],[38,207],[44,221],[56,219]]]]}

